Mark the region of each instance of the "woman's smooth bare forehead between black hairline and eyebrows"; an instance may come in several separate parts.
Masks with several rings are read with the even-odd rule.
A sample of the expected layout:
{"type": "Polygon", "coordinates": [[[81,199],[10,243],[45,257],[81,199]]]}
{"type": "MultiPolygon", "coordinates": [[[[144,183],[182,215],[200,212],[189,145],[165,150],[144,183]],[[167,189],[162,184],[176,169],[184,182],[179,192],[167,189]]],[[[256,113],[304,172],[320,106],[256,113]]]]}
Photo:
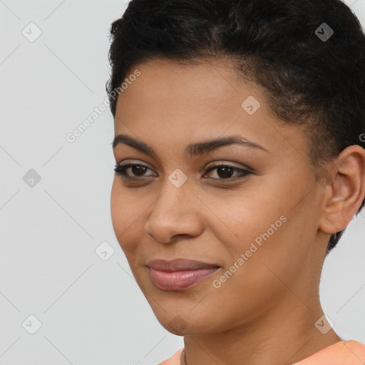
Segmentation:
{"type": "Polygon", "coordinates": [[[276,123],[262,88],[240,81],[226,59],[192,65],[153,60],[130,74],[135,70],[140,76],[118,98],[115,135],[138,136],[155,149],[235,134],[278,153],[307,150],[302,130],[276,123]]]}

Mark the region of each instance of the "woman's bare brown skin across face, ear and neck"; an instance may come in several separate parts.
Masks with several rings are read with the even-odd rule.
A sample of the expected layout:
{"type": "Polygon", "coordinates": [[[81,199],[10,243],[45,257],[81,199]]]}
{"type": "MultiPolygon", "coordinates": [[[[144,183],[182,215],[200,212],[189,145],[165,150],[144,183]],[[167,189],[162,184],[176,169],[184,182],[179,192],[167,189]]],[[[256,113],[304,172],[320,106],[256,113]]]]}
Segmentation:
{"type": "Polygon", "coordinates": [[[333,329],[322,334],[314,325],[324,314],[319,279],[331,233],[349,224],[364,199],[365,150],[351,146],[315,167],[303,130],[278,123],[262,88],[238,81],[222,58],[193,66],[150,60],[135,68],[140,76],[118,98],[115,135],[148,143],[158,156],[123,143],[113,148],[117,164],[148,166],[142,176],[127,170],[140,179],[134,182],[115,175],[113,228],[158,321],[184,336],[181,364],[294,364],[341,341],[333,329]],[[248,96],[261,103],[253,115],[241,106],[248,96]],[[265,150],[227,145],[184,153],[190,143],[228,135],[265,150]],[[213,162],[254,173],[224,183],[222,170],[207,173],[213,162]],[[180,187],[168,180],[177,168],[187,177],[180,187]],[[213,287],[281,216],[286,222],[213,287]],[[147,262],[178,257],[222,269],[188,289],[156,287],[147,262]]]}

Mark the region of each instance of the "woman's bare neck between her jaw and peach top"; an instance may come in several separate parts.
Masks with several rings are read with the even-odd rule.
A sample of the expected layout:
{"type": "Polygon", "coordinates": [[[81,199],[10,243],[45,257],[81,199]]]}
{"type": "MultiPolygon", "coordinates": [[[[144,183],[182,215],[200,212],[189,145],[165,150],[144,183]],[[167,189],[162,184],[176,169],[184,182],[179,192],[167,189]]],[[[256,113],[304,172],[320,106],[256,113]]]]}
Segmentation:
{"type": "MultiPolygon", "coordinates": [[[[313,298],[313,296],[312,296],[313,298]]],[[[315,323],[324,314],[315,300],[304,304],[289,292],[251,324],[217,334],[184,337],[182,365],[291,365],[341,341],[330,329],[322,334],[315,323]]],[[[322,327],[326,326],[319,323],[322,327]]]]}

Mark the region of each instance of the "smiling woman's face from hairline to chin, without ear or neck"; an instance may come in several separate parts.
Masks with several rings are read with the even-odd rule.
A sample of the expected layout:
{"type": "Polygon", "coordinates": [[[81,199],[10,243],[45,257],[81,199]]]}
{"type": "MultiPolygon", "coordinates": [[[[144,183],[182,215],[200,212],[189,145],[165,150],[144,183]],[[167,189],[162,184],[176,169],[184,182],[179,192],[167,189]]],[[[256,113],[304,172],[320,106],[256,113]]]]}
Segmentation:
{"type": "Polygon", "coordinates": [[[323,188],[303,130],[276,123],[262,89],[237,81],[225,60],[135,69],[118,98],[113,151],[118,165],[137,167],[125,169],[129,180],[115,174],[111,213],[160,323],[180,335],[214,333],[310,305],[329,235],[318,228],[323,188]],[[204,144],[232,136],[243,143],[204,144]],[[218,268],[148,267],[180,258],[218,268]]]}

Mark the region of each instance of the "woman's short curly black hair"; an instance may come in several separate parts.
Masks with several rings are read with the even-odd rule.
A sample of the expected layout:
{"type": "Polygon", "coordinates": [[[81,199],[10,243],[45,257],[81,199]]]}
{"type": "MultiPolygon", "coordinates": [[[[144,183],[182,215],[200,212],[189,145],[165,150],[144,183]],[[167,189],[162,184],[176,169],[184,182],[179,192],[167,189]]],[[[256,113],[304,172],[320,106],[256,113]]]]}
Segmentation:
{"type": "MultiPolygon", "coordinates": [[[[365,147],[365,35],[340,0],[132,0],[110,41],[114,118],[115,90],[136,64],[227,56],[262,86],[279,120],[306,127],[314,165],[365,147]]],[[[343,232],[331,235],[327,255],[343,232]]]]}

